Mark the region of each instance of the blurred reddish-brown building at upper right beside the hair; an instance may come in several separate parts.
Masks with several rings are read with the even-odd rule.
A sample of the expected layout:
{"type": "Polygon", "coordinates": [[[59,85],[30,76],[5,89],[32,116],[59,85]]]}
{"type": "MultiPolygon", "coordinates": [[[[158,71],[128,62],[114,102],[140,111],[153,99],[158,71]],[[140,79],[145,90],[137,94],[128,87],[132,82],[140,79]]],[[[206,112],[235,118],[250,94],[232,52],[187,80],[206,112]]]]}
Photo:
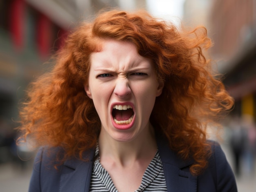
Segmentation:
{"type": "Polygon", "coordinates": [[[232,113],[256,119],[256,0],[186,0],[184,23],[207,27],[211,55],[236,102],[232,113]]]}

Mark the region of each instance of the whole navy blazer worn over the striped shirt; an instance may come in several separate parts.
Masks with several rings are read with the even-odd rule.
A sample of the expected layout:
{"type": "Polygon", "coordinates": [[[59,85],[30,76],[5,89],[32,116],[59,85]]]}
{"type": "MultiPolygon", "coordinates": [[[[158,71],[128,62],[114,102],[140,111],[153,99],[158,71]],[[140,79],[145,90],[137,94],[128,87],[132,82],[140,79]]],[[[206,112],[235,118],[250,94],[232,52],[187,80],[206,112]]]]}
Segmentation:
{"type": "MultiPolygon", "coordinates": [[[[163,140],[157,141],[168,192],[237,192],[234,174],[220,145],[214,141],[207,169],[193,176],[193,161],[182,161],[163,140]]],[[[58,149],[54,149],[58,150],[58,149]]],[[[56,151],[41,148],[36,155],[29,192],[89,192],[94,150],[85,152],[89,161],[70,159],[56,170],[56,151]]]]}

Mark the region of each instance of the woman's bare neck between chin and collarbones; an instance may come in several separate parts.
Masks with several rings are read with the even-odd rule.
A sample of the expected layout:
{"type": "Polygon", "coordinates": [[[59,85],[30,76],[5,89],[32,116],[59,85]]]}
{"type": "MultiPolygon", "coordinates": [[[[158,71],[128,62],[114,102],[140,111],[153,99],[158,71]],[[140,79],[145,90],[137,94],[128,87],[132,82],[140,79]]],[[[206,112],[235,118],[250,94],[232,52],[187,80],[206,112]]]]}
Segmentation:
{"type": "Polygon", "coordinates": [[[106,137],[106,132],[101,132],[99,136],[99,155],[101,161],[115,161],[126,166],[135,161],[151,160],[157,151],[157,143],[153,127],[148,124],[148,128],[141,132],[132,141],[116,141],[111,137],[106,137]]]}

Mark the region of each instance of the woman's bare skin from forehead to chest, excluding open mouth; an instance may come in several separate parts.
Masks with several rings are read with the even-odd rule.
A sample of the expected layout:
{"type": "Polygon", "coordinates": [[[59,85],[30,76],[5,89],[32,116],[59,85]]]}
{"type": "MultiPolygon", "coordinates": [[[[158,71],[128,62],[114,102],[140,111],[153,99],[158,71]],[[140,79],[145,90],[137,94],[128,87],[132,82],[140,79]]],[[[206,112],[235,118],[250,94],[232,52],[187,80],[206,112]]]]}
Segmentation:
{"type": "Polygon", "coordinates": [[[139,55],[130,42],[106,40],[102,51],[91,55],[85,91],[101,119],[101,164],[119,191],[136,190],[155,155],[157,145],[149,117],[162,87],[153,62],[139,55]],[[127,104],[134,111],[132,122],[115,124],[113,106],[127,104]]]}

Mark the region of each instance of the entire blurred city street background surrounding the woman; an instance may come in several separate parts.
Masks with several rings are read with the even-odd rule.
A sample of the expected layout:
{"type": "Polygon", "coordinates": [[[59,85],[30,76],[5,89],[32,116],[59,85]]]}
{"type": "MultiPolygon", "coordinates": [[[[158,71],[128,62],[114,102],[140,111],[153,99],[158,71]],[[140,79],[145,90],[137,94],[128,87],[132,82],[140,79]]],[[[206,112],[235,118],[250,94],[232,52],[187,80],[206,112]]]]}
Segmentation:
{"type": "Polygon", "coordinates": [[[239,192],[256,192],[256,0],[0,0],[0,192],[27,192],[34,152],[17,147],[18,104],[77,21],[104,7],[147,9],[175,24],[204,25],[211,59],[234,110],[220,141],[239,192]]]}

